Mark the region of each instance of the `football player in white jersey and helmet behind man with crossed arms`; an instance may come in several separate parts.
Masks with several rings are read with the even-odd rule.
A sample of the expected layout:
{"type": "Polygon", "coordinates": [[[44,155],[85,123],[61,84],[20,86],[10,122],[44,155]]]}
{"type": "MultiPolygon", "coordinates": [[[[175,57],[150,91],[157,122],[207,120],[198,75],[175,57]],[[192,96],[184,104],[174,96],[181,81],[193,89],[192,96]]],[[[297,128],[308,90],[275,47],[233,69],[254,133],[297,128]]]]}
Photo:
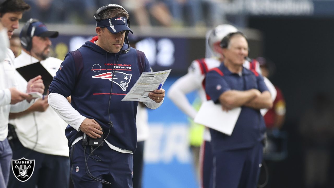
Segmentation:
{"type": "MultiPolygon", "coordinates": [[[[206,100],[203,88],[203,79],[205,77],[205,74],[208,72],[208,70],[218,67],[224,60],[224,57],[221,54],[222,52],[222,48],[220,47],[221,40],[227,34],[237,31],[238,31],[237,28],[228,24],[218,25],[212,31],[210,31],[208,35],[208,44],[212,53],[212,58],[194,60],[191,63],[190,67],[188,68],[188,73],[179,78],[169,88],[167,96],[180,110],[182,110],[191,119],[195,118],[197,110],[194,108],[194,106],[190,104],[189,100],[186,97],[186,94],[192,91],[197,91],[201,99],[201,102],[206,100]]],[[[247,69],[261,72],[259,63],[257,61],[251,61],[251,62],[244,61],[243,66],[247,69]]],[[[276,96],[276,91],[274,89],[274,86],[268,79],[266,81],[266,85],[268,85],[268,87],[271,88],[270,91],[272,95],[276,96]]],[[[198,165],[200,167],[199,169],[200,186],[206,188],[209,187],[209,184],[211,182],[210,174],[212,173],[212,163],[213,163],[213,157],[210,146],[211,136],[207,128],[205,130],[202,129],[204,131],[203,132],[200,131],[201,130],[200,125],[195,123],[192,123],[191,125],[192,126],[190,127],[190,143],[197,143],[197,141],[195,140],[201,139],[202,137],[204,139],[204,142],[201,145],[200,154],[196,152],[196,150],[193,150],[193,153],[195,153],[194,156],[200,155],[199,157],[200,164],[198,165]],[[196,134],[194,134],[195,132],[196,134]]],[[[195,149],[196,146],[193,146],[192,148],[195,149]]],[[[194,159],[196,159],[196,157],[194,157],[194,159]]],[[[196,162],[195,166],[197,166],[196,162]]]]}

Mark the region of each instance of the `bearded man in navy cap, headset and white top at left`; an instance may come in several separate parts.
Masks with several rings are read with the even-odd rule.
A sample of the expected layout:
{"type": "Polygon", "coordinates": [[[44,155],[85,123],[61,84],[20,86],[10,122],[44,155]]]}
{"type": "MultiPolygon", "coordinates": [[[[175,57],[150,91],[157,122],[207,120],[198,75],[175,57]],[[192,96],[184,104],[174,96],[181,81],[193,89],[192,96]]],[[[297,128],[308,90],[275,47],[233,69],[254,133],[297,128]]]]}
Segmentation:
{"type": "MultiPolygon", "coordinates": [[[[37,19],[29,19],[20,32],[22,52],[14,59],[15,68],[40,62],[54,77],[62,61],[49,57],[51,47],[49,38],[57,36],[58,31],[49,31],[44,23],[37,19]]],[[[27,87],[25,79],[16,74],[19,89],[27,87]]],[[[18,138],[10,140],[13,159],[19,160],[24,157],[27,160],[35,160],[35,164],[29,181],[21,182],[11,172],[8,187],[67,188],[69,150],[64,135],[67,123],[49,107],[47,95],[37,99],[23,112],[10,113],[9,118],[12,119],[10,123],[14,125],[14,133],[18,138]]]]}

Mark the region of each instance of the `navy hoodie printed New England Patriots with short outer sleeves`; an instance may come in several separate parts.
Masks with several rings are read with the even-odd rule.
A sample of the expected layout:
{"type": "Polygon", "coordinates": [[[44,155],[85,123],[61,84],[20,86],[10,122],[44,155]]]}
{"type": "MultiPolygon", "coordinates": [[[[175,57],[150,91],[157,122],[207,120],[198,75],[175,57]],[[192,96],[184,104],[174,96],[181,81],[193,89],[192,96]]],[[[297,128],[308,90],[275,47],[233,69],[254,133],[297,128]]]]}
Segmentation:
{"type": "MultiPolygon", "coordinates": [[[[97,37],[87,41],[78,50],[82,60],[75,65],[71,53],[67,53],[56,76],[50,85],[50,93],[58,93],[64,97],[71,96],[71,105],[81,115],[95,119],[104,129],[109,131],[109,97],[110,119],[113,122],[107,141],[124,150],[134,152],[137,144],[136,113],[138,102],[121,101],[138,80],[142,72],[151,72],[150,64],[141,51],[131,48],[126,54],[109,53],[94,43],[97,37]],[[112,77],[114,64],[115,74],[112,77]],[[112,89],[112,92],[111,92],[112,89]]],[[[128,48],[123,45],[122,50],[128,48]]],[[[75,51],[74,51],[75,52],[75,51]]],[[[68,146],[82,131],[67,126],[65,135],[68,146]]]]}

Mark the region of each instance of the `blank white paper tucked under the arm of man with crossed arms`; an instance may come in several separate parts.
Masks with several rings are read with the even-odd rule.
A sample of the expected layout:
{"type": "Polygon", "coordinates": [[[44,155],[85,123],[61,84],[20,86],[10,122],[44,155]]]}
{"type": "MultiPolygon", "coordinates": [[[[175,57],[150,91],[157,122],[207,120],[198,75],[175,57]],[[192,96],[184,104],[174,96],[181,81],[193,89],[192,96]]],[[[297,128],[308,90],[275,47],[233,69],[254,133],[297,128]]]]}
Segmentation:
{"type": "Polygon", "coordinates": [[[241,107],[233,108],[228,112],[223,111],[221,104],[214,104],[212,100],[209,100],[203,102],[194,122],[230,136],[240,112],[241,107]]]}

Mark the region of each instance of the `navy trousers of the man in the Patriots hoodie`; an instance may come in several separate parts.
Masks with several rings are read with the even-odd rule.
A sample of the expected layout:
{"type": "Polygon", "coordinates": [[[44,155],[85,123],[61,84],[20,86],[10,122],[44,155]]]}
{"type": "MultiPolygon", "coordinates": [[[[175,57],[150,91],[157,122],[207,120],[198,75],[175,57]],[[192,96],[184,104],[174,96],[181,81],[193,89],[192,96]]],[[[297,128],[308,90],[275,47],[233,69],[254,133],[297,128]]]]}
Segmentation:
{"type": "Polygon", "coordinates": [[[100,146],[93,152],[95,160],[92,156],[88,158],[90,148],[86,147],[85,154],[88,169],[82,141],[75,143],[70,149],[70,175],[75,188],[132,188],[132,154],[117,152],[104,143],[103,147],[100,146]],[[111,184],[93,180],[88,174],[111,184]]]}

